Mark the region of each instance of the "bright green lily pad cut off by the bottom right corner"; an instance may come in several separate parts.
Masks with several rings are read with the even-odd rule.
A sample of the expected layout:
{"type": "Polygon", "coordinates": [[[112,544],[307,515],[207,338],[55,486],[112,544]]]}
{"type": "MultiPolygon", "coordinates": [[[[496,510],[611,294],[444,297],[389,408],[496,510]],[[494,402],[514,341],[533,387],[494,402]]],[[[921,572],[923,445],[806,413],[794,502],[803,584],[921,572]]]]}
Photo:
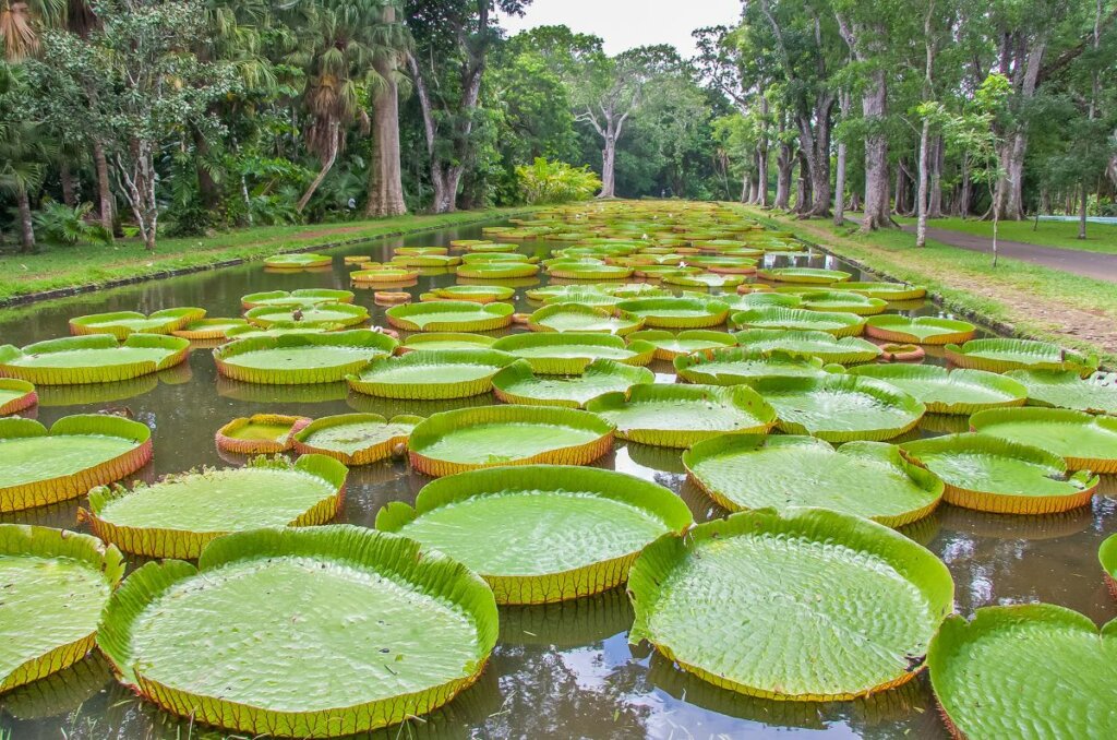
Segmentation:
{"type": "Polygon", "coordinates": [[[958,738],[1108,738],[1117,701],[1117,622],[1051,604],[947,617],[927,665],[958,738]]]}

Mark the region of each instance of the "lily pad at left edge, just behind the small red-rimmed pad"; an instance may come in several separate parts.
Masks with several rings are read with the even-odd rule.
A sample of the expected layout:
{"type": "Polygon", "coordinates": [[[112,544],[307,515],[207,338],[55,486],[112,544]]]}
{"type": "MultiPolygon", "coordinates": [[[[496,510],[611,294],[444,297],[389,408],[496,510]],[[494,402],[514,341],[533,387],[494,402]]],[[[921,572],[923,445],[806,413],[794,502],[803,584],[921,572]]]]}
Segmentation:
{"type": "Polygon", "coordinates": [[[77,386],[131,380],[173,368],[187,359],[190,341],[157,334],[67,336],[19,349],[0,347],[0,373],[36,386],[77,386]]]}

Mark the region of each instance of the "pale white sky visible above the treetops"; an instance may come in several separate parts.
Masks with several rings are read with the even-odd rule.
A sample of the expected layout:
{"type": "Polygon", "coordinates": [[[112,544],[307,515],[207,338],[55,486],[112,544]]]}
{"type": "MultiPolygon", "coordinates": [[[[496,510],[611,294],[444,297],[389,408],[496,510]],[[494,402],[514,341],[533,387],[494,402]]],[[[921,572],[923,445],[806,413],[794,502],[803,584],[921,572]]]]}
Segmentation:
{"type": "Polygon", "coordinates": [[[741,17],[741,0],[534,0],[523,18],[500,19],[513,35],[536,26],[569,26],[605,40],[605,51],[670,44],[684,57],[695,54],[690,31],[728,26],[741,17]]]}

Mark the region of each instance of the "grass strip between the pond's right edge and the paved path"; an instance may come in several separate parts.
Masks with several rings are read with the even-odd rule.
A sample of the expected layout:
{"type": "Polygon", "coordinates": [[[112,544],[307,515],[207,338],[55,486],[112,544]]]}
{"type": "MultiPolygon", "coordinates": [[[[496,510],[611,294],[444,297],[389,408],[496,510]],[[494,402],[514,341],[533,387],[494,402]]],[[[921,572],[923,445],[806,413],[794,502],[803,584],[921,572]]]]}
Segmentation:
{"type": "Polygon", "coordinates": [[[1117,367],[1117,284],[885,230],[863,236],[856,227],[747,208],[751,216],[820,244],[894,279],[924,285],[951,310],[1011,326],[1016,333],[1099,353],[1117,367]]]}

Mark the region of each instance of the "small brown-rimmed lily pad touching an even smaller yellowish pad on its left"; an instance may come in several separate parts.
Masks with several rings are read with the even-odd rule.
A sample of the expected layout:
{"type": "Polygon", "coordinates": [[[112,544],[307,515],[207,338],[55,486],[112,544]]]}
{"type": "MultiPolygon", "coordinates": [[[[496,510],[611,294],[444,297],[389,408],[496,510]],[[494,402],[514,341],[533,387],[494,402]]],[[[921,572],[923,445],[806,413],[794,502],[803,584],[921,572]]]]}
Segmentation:
{"type": "Polygon", "coordinates": [[[421,416],[386,419],[379,414],[342,414],[315,419],[293,438],[302,455],[316,453],[346,465],[370,465],[407,449],[408,437],[421,416]]]}

